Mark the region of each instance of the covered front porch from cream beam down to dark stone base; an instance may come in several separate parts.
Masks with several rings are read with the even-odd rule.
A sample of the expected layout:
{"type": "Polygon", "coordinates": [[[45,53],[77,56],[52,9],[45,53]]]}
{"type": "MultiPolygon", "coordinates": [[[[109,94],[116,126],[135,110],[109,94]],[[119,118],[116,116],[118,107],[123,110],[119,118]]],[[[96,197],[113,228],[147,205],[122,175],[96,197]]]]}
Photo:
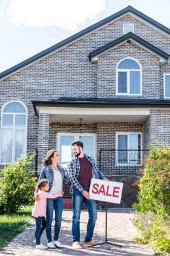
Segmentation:
{"type": "MultiPolygon", "coordinates": [[[[40,106],[41,105],[41,106],[40,106]]],[[[130,207],[136,199],[138,177],[150,141],[150,110],[148,108],[36,106],[39,116],[38,171],[42,159],[51,148],[60,153],[60,164],[67,170],[71,160],[71,142],[84,143],[84,151],[95,158],[97,167],[111,181],[124,183],[121,206],[130,207]]],[[[65,200],[70,197],[65,187],[65,200]]],[[[71,203],[71,202],[70,202],[71,203]]],[[[110,205],[110,207],[118,205],[110,205]]],[[[68,206],[68,203],[65,204],[68,206]]],[[[101,203],[99,207],[102,207],[101,203]]]]}

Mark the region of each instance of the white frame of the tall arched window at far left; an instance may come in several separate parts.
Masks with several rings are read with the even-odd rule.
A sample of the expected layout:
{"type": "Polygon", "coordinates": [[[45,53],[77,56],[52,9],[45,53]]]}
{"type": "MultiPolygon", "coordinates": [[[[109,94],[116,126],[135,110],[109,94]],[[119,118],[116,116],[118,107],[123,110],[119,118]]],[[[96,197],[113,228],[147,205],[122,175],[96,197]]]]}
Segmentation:
{"type": "Polygon", "coordinates": [[[27,133],[28,133],[28,108],[26,106],[26,104],[24,104],[24,102],[20,101],[20,100],[11,100],[9,102],[5,102],[5,104],[3,104],[2,108],[1,108],[1,137],[0,137],[0,164],[4,165],[4,164],[13,164],[15,163],[15,131],[25,131],[25,135],[24,135],[24,154],[26,154],[26,150],[27,150],[27,133]],[[7,104],[10,104],[12,102],[17,102],[19,104],[22,104],[22,106],[24,106],[26,113],[3,113],[3,110],[5,108],[5,106],[7,106],[7,104]],[[9,127],[9,125],[3,125],[3,114],[5,115],[13,115],[13,126],[9,127]],[[22,126],[17,126],[17,128],[15,128],[15,115],[26,115],[26,126],[24,126],[24,128],[22,126]],[[1,162],[1,150],[2,150],[2,133],[3,133],[3,129],[13,129],[13,148],[12,148],[12,162],[1,162]]]}

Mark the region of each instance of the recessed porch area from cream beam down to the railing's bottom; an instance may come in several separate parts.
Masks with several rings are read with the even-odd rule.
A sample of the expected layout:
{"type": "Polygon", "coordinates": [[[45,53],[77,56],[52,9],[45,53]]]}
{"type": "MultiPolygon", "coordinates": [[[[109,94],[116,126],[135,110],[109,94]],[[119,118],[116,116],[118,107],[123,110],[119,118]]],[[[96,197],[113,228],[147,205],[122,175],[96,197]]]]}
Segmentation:
{"type": "Polygon", "coordinates": [[[112,115],[108,116],[103,113],[40,113],[38,171],[41,170],[42,159],[51,148],[59,151],[60,164],[66,169],[67,163],[73,158],[71,142],[81,140],[85,153],[93,156],[105,174],[118,174],[121,169],[123,172],[128,170],[128,174],[134,173],[136,168],[142,166],[142,159],[148,150],[148,114],[149,110],[126,109],[112,109],[112,115]]]}

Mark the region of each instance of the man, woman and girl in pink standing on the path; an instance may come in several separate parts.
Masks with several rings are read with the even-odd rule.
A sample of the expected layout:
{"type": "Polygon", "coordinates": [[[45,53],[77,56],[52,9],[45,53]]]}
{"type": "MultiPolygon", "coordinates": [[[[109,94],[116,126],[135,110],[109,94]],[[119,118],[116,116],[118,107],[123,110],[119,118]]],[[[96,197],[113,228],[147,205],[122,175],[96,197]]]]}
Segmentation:
{"type": "Polygon", "coordinates": [[[75,158],[69,164],[67,175],[64,168],[58,164],[60,156],[57,150],[49,150],[46,158],[44,158],[42,172],[36,186],[36,200],[32,211],[32,216],[36,220],[34,240],[36,249],[64,247],[59,242],[58,237],[62,220],[63,184],[67,184],[69,181],[71,183],[70,192],[73,197],[72,247],[73,249],[81,249],[80,214],[82,203],[85,203],[89,213],[87,233],[83,245],[85,247],[95,245],[92,237],[97,219],[97,205],[96,201],[90,199],[89,187],[92,178],[105,181],[108,181],[108,179],[97,169],[94,159],[84,154],[81,141],[74,141],[72,143],[72,151],[75,158]],[[54,241],[52,241],[51,228],[53,211],[55,212],[54,241]],[[44,230],[46,230],[48,240],[47,247],[40,243],[40,237],[44,230]]]}

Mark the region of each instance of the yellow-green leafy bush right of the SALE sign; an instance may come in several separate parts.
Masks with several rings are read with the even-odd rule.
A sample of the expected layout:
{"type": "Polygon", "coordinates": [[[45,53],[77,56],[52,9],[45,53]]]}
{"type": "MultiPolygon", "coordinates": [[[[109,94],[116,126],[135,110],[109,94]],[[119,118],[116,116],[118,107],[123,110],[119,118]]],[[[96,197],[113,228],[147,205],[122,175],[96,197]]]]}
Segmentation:
{"type": "Polygon", "coordinates": [[[134,224],[140,236],[158,253],[170,253],[170,148],[151,150],[138,185],[138,203],[134,203],[134,224]]]}

